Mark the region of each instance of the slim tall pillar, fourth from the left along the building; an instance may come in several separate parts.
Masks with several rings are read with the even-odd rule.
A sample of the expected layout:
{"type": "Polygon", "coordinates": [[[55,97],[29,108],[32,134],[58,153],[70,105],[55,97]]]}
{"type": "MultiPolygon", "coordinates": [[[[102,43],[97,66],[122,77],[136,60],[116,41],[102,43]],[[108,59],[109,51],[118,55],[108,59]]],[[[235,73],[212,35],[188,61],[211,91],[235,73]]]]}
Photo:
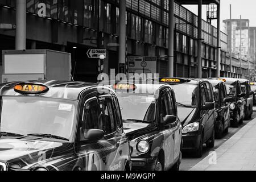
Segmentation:
{"type": "Polygon", "coordinates": [[[198,0],[197,78],[202,78],[202,0],[198,0]]]}

